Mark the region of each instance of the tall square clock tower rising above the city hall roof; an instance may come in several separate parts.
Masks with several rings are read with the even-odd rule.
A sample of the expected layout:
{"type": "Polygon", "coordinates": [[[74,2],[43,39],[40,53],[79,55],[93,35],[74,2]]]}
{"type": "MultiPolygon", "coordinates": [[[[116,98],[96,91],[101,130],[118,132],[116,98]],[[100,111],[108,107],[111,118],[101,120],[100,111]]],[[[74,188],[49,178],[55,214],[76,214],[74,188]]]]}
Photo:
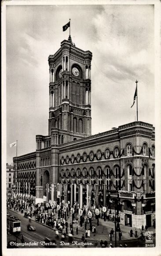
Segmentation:
{"type": "Polygon", "coordinates": [[[48,135],[54,144],[91,135],[91,59],[92,53],[77,48],[71,36],[48,57],[48,135]]]}

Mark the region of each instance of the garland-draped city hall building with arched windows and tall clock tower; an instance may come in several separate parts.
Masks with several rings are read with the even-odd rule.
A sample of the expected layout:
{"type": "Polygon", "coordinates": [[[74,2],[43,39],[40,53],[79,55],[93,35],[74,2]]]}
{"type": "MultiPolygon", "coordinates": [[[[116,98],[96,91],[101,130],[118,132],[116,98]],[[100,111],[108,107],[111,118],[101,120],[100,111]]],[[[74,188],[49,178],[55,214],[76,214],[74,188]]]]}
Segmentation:
{"type": "Polygon", "coordinates": [[[49,184],[51,202],[51,184],[67,184],[70,200],[74,184],[74,201],[79,203],[78,191],[83,186],[86,204],[87,184],[91,184],[94,204],[97,185],[99,207],[107,206],[113,212],[117,199],[122,224],[152,226],[155,128],[135,121],[91,135],[91,60],[92,53],[77,48],[71,37],[48,57],[48,135],[36,136],[35,152],[13,158],[15,193],[30,194],[36,203],[43,202],[49,184]]]}

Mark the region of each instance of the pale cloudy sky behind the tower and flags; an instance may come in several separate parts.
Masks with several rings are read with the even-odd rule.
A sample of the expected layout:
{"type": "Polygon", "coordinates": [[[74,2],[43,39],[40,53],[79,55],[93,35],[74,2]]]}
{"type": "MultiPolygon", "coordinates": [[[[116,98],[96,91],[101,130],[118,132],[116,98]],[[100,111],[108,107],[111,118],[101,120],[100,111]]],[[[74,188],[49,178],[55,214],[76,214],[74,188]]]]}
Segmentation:
{"type": "Polygon", "coordinates": [[[7,162],[36,150],[48,135],[49,66],[69,29],[76,47],[92,52],[91,133],[136,119],[154,123],[153,5],[23,5],[6,9],[7,162]]]}

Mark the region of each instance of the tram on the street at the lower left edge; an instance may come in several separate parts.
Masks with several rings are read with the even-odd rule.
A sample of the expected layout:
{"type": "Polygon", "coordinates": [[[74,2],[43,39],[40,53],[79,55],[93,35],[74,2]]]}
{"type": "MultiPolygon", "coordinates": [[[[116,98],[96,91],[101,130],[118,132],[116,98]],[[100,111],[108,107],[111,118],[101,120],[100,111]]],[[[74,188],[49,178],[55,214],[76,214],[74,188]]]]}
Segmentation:
{"type": "Polygon", "coordinates": [[[10,231],[10,233],[20,233],[21,220],[7,213],[7,229],[10,231]]]}

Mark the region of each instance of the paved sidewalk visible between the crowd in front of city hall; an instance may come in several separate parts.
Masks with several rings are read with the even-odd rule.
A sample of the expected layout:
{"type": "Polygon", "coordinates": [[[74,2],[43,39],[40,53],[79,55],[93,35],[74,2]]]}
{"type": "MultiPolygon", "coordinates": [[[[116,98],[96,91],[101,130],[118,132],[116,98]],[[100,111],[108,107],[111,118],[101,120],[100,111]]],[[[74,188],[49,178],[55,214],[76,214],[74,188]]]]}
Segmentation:
{"type": "MultiPolygon", "coordinates": [[[[22,214],[19,211],[14,211],[13,208],[9,209],[9,210],[18,213],[21,216],[24,216],[24,213],[22,214]]],[[[45,212],[47,212],[47,211],[45,211],[45,212]]],[[[52,210],[50,209],[48,212],[50,213],[50,212],[52,212],[52,210]]],[[[58,215],[58,211],[57,211],[57,213],[55,215],[56,216],[58,215]]],[[[73,233],[74,233],[73,237],[81,239],[83,234],[84,234],[84,237],[85,237],[84,223],[83,223],[83,225],[81,227],[79,225],[80,215],[75,214],[75,218],[76,217],[78,217],[78,223],[74,223],[73,224],[73,233]],[[78,235],[76,234],[76,228],[77,227],[78,227],[78,235]]],[[[66,217],[66,220],[67,220],[68,223],[70,223],[71,219],[72,219],[72,216],[71,216],[71,213],[69,213],[69,216],[66,217]]],[[[31,220],[36,222],[34,216],[32,216],[31,220]]],[[[112,228],[113,228],[113,230],[115,230],[114,222],[107,221],[107,220],[105,222],[103,219],[99,218],[99,226],[97,226],[97,220],[95,218],[92,218],[91,219],[91,223],[92,223],[92,225],[94,225],[96,227],[96,233],[90,232],[90,237],[88,237],[87,239],[91,240],[91,241],[101,241],[101,240],[104,241],[106,239],[106,241],[109,242],[110,241],[110,237],[109,237],[110,230],[112,228]]],[[[52,227],[47,226],[46,224],[42,224],[40,222],[39,222],[39,224],[40,225],[44,225],[44,226],[50,228],[51,230],[53,230],[52,227]]],[[[87,224],[87,230],[88,229],[89,229],[89,223],[87,224]]],[[[124,225],[120,224],[120,229],[121,229],[121,233],[122,233],[121,241],[137,239],[137,238],[135,238],[135,228],[132,228],[132,227],[129,227],[129,226],[124,226],[124,225]],[[132,237],[130,237],[130,230],[131,229],[133,230],[133,236],[132,237]]],[[[140,232],[141,232],[141,228],[140,229],[136,229],[136,230],[138,231],[138,237],[139,237],[140,232]]],[[[70,227],[69,226],[68,226],[68,231],[70,232],[70,227]]],[[[148,231],[153,231],[155,233],[154,227],[148,228],[148,231]]],[[[143,233],[145,234],[145,229],[144,229],[143,233]]],[[[112,241],[115,241],[115,232],[113,234],[112,241]]],[[[117,241],[119,241],[118,232],[117,232],[117,241]]]]}

